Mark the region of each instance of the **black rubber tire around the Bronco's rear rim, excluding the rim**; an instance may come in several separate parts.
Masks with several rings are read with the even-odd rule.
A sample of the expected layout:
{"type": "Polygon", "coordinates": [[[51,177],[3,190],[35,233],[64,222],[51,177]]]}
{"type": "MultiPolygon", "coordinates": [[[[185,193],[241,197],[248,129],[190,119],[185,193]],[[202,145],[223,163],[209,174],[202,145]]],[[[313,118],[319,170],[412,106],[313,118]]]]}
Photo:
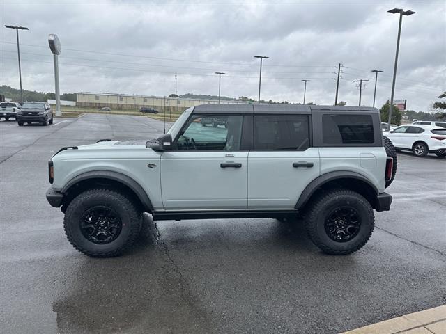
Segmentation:
{"type": "Polygon", "coordinates": [[[347,255],[367,244],[374,230],[375,216],[370,203],[362,195],[342,189],[327,191],[316,198],[305,213],[304,223],[309,239],[323,253],[347,255]],[[345,242],[334,241],[325,232],[325,220],[337,207],[352,207],[360,217],[360,228],[357,234],[345,242]]]}

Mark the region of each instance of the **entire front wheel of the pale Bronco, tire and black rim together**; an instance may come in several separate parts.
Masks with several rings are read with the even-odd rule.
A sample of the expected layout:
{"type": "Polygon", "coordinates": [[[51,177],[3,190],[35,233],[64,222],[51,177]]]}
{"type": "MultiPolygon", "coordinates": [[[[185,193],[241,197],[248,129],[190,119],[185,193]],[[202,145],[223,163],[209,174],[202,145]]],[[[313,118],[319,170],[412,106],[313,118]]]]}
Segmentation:
{"type": "Polygon", "coordinates": [[[137,238],[141,214],[121,193],[91,189],[70,202],[63,220],[68,240],[80,253],[113,257],[137,238]]]}

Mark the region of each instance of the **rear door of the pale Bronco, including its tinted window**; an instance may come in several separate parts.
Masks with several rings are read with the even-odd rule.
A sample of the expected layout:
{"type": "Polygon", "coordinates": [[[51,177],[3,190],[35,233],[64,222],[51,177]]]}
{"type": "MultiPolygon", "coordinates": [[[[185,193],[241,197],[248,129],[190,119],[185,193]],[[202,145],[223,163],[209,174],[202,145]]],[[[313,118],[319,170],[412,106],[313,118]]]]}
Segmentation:
{"type": "Polygon", "coordinates": [[[254,114],[248,207],[293,209],[308,182],[319,175],[318,148],[310,145],[310,116],[267,112],[254,114]]]}

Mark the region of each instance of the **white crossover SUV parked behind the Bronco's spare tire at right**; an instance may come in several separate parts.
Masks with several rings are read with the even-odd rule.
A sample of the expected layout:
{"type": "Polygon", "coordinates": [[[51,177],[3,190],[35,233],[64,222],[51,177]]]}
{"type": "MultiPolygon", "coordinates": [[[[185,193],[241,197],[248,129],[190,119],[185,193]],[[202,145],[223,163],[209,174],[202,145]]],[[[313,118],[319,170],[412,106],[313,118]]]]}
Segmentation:
{"type": "Polygon", "coordinates": [[[431,125],[402,125],[385,134],[397,150],[410,150],[417,157],[446,155],[446,129],[431,125]]]}

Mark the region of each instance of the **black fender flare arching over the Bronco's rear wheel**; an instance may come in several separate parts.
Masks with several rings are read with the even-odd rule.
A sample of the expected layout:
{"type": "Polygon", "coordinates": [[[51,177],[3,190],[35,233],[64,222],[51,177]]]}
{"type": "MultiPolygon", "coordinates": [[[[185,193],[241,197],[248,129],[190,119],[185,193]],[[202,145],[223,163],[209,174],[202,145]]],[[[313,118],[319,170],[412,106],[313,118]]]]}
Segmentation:
{"type": "Polygon", "coordinates": [[[369,185],[371,187],[371,189],[374,189],[376,196],[378,196],[378,193],[379,193],[378,189],[376,188],[376,186],[374,184],[372,184],[369,180],[367,180],[367,177],[364,177],[360,173],[355,173],[355,172],[351,172],[348,170],[335,171],[335,172],[329,172],[329,173],[320,175],[320,176],[316,177],[316,179],[314,179],[312,182],[309,182],[309,184],[305,187],[304,191],[302,191],[302,193],[300,194],[298,202],[295,205],[295,209],[300,209],[300,208],[304,207],[307,204],[309,198],[312,197],[314,192],[319,187],[323,186],[323,184],[325,184],[327,182],[330,182],[330,181],[336,180],[336,179],[360,180],[360,181],[366,183],[367,185],[369,185]]]}

